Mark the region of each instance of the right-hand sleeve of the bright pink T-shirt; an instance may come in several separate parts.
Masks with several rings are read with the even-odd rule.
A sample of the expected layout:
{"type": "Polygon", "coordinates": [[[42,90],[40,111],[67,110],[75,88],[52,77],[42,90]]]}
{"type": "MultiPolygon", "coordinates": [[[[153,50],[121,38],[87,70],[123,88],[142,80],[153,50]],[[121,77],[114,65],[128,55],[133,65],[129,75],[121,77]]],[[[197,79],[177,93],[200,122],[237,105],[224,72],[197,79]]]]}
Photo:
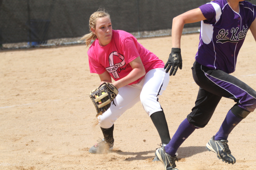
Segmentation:
{"type": "Polygon", "coordinates": [[[124,55],[125,63],[130,63],[135,58],[139,57],[139,52],[137,49],[138,43],[135,38],[126,37],[121,43],[121,48],[124,55]]]}

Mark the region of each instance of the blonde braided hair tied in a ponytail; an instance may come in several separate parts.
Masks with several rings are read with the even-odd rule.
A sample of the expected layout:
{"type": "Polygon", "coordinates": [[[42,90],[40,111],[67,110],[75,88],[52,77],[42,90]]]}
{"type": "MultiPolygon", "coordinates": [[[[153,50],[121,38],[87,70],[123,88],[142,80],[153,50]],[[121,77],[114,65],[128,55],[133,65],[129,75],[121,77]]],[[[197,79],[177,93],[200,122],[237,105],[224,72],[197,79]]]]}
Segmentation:
{"type": "Polygon", "coordinates": [[[89,31],[90,33],[85,34],[80,40],[84,40],[86,45],[88,46],[92,40],[96,40],[97,36],[92,32],[91,28],[96,28],[96,21],[98,18],[108,17],[110,19],[110,15],[105,12],[104,9],[99,9],[98,11],[92,13],[89,19],[89,31]]]}

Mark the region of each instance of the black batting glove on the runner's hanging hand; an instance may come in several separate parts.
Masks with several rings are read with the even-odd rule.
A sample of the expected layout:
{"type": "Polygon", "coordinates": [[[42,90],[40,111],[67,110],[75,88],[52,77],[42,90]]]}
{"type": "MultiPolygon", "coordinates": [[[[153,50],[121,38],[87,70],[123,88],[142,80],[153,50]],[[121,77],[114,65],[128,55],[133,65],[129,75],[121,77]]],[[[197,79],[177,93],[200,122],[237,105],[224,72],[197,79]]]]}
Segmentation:
{"type": "Polygon", "coordinates": [[[180,54],[180,48],[172,48],[171,54],[169,55],[169,59],[164,65],[164,69],[166,73],[170,70],[170,76],[174,76],[178,70],[182,69],[182,58],[180,54]],[[172,67],[172,68],[171,68],[172,67]]]}

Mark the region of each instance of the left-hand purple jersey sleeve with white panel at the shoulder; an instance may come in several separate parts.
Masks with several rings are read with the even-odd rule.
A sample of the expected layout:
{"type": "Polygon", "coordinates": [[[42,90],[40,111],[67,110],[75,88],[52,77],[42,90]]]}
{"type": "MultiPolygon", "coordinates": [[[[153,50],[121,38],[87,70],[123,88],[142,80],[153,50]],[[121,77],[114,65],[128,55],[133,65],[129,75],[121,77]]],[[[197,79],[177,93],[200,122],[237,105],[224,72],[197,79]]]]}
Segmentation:
{"type": "Polygon", "coordinates": [[[215,24],[220,18],[221,8],[217,3],[211,2],[204,4],[200,6],[199,9],[202,11],[204,17],[206,18],[206,20],[204,20],[205,24],[215,24]]]}

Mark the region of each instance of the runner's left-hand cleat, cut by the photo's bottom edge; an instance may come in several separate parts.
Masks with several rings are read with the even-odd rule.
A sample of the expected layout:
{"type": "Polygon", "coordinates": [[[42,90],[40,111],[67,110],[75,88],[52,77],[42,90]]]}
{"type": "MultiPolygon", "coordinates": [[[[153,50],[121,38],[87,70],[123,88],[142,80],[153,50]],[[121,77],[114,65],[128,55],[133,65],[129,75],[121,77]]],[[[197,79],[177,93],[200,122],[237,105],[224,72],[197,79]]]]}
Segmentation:
{"type": "Polygon", "coordinates": [[[165,153],[164,147],[165,146],[156,150],[156,157],[164,164],[165,170],[178,170],[175,168],[175,160],[177,159],[177,156],[175,155],[174,157],[171,157],[169,154],[165,153]]]}

